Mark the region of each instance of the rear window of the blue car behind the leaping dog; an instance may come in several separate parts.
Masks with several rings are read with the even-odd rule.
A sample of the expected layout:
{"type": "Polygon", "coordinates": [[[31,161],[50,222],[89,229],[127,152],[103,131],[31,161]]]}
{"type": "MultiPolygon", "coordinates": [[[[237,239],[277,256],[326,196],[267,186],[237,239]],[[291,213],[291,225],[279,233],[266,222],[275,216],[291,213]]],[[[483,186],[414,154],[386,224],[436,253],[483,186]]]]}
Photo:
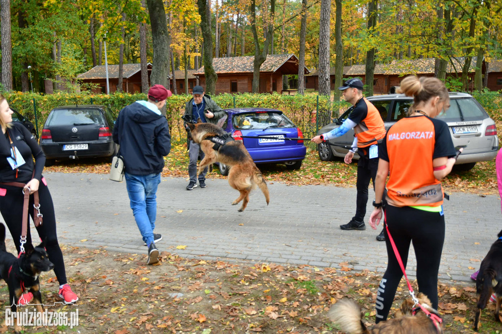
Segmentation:
{"type": "Polygon", "coordinates": [[[250,112],[245,114],[236,114],[232,117],[233,127],[238,130],[258,129],[278,127],[294,127],[295,125],[286,116],[280,112],[250,112]]]}

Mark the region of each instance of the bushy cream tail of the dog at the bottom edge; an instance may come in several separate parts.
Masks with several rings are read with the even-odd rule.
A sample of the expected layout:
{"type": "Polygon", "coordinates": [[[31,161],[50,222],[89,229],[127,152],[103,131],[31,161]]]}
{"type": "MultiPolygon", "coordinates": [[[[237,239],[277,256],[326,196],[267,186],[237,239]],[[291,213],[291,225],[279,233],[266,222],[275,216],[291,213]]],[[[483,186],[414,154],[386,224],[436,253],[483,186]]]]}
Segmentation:
{"type": "Polygon", "coordinates": [[[364,322],[362,322],[361,309],[353,300],[338,300],[336,304],[331,306],[328,317],[346,333],[364,334],[368,332],[364,322]]]}

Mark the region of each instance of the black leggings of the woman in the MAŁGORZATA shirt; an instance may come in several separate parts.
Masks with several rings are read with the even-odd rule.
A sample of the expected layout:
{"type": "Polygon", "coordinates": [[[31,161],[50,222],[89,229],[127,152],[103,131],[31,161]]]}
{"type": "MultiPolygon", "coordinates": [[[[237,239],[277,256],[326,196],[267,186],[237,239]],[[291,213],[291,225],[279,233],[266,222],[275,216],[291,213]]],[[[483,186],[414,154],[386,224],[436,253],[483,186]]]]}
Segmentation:
{"type": "MultiPolygon", "coordinates": [[[[387,206],[385,221],[406,267],[410,242],[417,258],[417,281],[419,291],[438,308],[438,271],[444,243],[444,216],[439,212],[427,212],[411,207],[387,206]]],[[[396,289],[403,272],[385,230],[388,266],[376,295],[376,323],[387,320],[396,289]]],[[[408,287],[406,287],[408,288],[408,287]]]]}

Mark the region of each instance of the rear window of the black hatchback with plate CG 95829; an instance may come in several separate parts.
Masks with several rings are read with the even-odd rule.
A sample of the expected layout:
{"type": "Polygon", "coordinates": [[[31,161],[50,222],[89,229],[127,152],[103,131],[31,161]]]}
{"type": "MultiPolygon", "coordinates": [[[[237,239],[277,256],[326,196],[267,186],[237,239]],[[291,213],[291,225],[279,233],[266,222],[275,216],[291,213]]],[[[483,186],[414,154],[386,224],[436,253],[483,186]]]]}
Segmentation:
{"type": "Polygon", "coordinates": [[[47,118],[47,126],[105,124],[98,109],[56,109],[47,118]]]}

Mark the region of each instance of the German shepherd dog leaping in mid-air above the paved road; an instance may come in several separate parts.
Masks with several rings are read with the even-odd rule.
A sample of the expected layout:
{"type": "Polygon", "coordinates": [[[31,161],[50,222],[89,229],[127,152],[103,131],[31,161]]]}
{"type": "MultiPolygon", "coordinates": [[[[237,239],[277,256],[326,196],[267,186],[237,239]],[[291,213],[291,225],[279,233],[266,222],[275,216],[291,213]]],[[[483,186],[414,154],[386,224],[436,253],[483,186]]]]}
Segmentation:
{"type": "Polygon", "coordinates": [[[207,138],[223,136],[227,132],[216,124],[202,123],[200,119],[195,124],[188,123],[188,127],[190,130],[189,137],[194,142],[200,144],[200,148],[205,154],[204,158],[200,161],[198,175],[207,166],[215,162],[224,163],[230,166],[228,184],[240,192],[240,196],[232,202],[232,205],[236,205],[242,201],[242,206],[238,210],[239,212],[244,211],[249,202],[249,193],[257,186],[265,195],[267,205],[269,204],[270,196],[267,183],[263,180],[262,172],[260,172],[241,141],[229,141],[221,145],[218,150],[215,150],[213,149],[214,143],[207,138]]]}

